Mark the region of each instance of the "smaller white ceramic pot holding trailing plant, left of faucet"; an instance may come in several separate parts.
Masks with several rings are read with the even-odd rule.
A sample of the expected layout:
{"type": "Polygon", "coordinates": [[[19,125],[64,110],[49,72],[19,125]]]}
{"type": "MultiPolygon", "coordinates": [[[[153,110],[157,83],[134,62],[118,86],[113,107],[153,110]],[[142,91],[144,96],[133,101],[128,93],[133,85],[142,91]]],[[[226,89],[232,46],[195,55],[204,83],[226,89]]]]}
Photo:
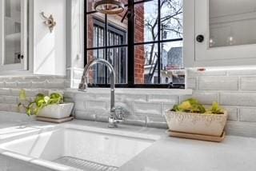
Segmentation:
{"type": "Polygon", "coordinates": [[[38,117],[49,117],[53,119],[70,117],[73,107],[74,103],[47,105],[38,113],[38,117]]]}

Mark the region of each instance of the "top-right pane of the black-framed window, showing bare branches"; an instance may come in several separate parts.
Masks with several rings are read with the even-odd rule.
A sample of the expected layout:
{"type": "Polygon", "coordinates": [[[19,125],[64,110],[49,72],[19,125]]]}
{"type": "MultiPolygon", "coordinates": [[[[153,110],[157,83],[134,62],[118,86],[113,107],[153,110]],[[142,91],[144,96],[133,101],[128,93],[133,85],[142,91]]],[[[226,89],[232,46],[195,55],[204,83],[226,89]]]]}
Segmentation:
{"type": "Polygon", "coordinates": [[[182,0],[161,0],[160,10],[162,39],[182,38],[182,0]]]}

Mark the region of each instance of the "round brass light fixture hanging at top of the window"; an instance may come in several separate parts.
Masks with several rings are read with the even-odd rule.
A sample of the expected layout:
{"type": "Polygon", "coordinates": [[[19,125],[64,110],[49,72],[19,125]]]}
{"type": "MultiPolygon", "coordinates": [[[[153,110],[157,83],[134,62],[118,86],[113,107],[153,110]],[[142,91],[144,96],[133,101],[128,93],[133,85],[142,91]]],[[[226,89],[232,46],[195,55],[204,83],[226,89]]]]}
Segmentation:
{"type": "Polygon", "coordinates": [[[120,14],[125,6],[118,0],[99,0],[94,3],[94,9],[102,14],[120,14]]]}

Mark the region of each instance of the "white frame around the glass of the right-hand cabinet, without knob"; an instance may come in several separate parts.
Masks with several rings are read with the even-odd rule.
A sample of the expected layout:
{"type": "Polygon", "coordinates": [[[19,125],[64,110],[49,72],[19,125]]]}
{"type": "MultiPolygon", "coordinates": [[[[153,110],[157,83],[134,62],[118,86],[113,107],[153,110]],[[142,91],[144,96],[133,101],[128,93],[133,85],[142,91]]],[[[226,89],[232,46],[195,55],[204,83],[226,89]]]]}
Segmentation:
{"type": "Polygon", "coordinates": [[[256,44],[209,47],[209,0],[184,0],[184,62],[186,67],[256,65],[256,44]],[[204,42],[197,42],[197,35],[204,42]]]}

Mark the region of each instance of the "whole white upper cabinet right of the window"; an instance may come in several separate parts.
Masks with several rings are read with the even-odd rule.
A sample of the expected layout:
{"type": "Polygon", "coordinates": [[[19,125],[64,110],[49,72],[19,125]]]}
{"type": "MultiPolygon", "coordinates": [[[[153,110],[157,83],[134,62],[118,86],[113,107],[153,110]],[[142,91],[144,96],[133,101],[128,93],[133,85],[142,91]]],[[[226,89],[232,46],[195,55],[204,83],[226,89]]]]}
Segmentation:
{"type": "Polygon", "coordinates": [[[184,0],[184,62],[256,65],[255,0],[184,0]]]}

